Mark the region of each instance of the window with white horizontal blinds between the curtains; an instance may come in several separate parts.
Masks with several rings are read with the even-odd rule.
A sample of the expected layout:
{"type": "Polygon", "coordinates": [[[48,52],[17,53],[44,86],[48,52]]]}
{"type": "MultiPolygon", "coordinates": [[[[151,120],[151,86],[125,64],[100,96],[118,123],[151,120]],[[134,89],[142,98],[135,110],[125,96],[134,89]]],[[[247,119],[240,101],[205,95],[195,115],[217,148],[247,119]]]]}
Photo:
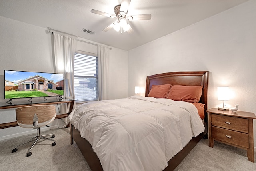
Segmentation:
{"type": "Polygon", "coordinates": [[[78,101],[98,100],[98,57],[96,55],[75,53],[74,89],[78,101]]]}

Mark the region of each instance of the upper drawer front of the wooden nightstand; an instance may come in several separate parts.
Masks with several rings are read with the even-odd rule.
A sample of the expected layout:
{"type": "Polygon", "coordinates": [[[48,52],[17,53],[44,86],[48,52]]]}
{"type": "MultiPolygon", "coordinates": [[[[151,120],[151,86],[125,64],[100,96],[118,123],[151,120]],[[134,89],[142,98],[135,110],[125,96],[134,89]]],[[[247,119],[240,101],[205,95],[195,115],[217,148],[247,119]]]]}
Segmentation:
{"type": "Polygon", "coordinates": [[[212,126],[248,133],[248,119],[212,114],[212,126]]]}

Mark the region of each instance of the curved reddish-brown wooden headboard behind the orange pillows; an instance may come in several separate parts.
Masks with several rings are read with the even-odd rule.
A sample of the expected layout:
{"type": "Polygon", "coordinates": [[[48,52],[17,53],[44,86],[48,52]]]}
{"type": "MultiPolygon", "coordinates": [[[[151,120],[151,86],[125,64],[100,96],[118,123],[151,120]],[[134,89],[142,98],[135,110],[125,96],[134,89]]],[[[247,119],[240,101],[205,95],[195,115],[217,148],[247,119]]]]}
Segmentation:
{"type": "Polygon", "coordinates": [[[205,104],[205,114],[207,110],[207,89],[208,89],[208,73],[209,71],[183,71],[183,72],[167,72],[147,76],[146,93],[148,93],[152,85],[172,84],[185,86],[203,86],[200,103],[205,104]]]}

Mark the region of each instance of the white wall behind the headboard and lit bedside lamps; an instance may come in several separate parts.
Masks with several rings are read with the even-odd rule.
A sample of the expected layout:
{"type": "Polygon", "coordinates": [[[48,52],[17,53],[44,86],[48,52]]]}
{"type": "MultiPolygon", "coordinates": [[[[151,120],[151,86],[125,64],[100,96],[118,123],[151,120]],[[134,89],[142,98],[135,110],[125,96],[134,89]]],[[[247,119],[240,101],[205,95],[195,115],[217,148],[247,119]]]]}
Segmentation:
{"type": "Polygon", "coordinates": [[[222,105],[216,97],[217,87],[229,86],[233,96],[226,103],[256,113],[255,9],[256,1],[246,2],[130,50],[128,95],[134,94],[136,85],[145,87],[146,76],[152,74],[209,70],[209,109],[222,105]]]}

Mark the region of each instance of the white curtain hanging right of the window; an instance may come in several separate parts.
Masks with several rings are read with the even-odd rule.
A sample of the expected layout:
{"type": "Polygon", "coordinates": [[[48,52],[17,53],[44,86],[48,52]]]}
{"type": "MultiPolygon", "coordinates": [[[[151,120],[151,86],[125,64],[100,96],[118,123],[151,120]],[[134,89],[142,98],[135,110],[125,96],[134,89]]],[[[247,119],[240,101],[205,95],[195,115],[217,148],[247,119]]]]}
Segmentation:
{"type": "Polygon", "coordinates": [[[106,100],[109,98],[109,51],[110,49],[98,45],[98,98],[106,100]]]}

